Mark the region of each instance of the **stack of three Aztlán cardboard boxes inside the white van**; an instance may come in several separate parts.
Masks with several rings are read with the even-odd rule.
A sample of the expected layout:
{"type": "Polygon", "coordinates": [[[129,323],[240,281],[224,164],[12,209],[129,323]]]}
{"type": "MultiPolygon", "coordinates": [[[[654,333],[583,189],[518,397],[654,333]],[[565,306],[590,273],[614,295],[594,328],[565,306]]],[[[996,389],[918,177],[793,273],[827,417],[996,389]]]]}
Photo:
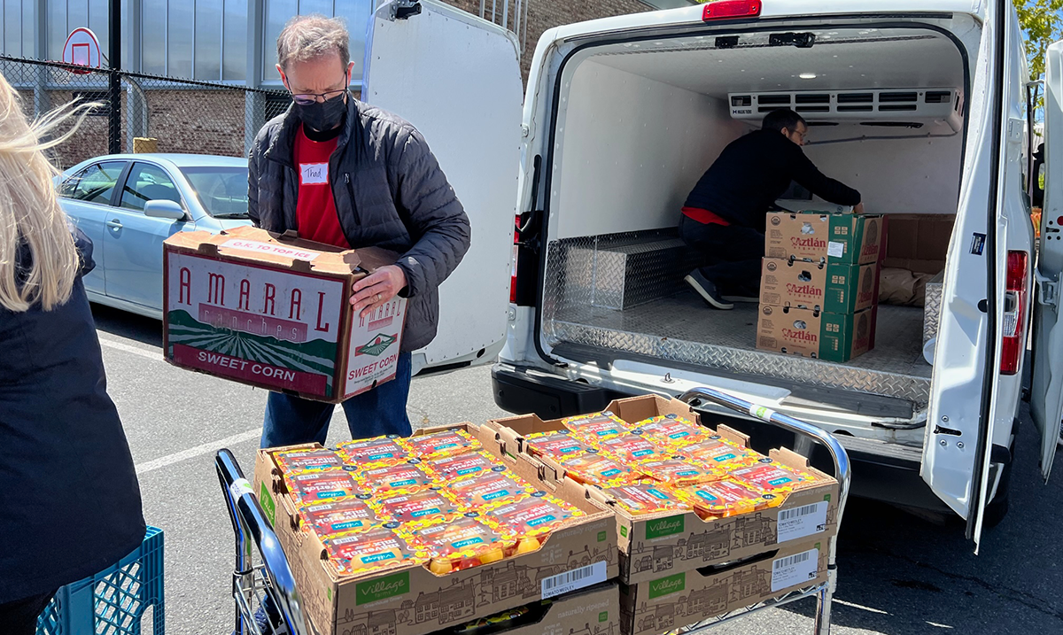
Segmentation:
{"type": "Polygon", "coordinates": [[[757,348],[845,362],[875,346],[884,219],[771,212],[757,348]]]}

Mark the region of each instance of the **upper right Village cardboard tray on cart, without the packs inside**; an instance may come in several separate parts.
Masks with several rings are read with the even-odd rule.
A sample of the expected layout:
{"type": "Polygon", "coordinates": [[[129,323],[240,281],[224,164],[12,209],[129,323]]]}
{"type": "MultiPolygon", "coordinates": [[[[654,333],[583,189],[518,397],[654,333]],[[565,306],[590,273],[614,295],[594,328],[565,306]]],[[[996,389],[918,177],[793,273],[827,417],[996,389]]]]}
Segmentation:
{"type": "MultiPolygon", "coordinates": [[[[628,423],[673,413],[701,423],[697,414],[687,405],[657,395],[617,399],[606,410],[628,423]]],[[[566,492],[583,490],[587,496],[611,509],[615,514],[621,552],[620,578],[626,584],[732,562],[775,546],[789,547],[812,539],[827,544],[838,533],[838,482],[788,449],[772,450],[770,456],[780,463],[812,471],[821,477],[823,483],[789,494],[777,508],[715,520],[704,520],[694,512],[630,516],[596,487],[587,487],[566,478],[560,465],[549,458],[526,453],[525,435],[552,432],[563,427],[560,419],[544,422],[534,414],[507,417],[482,427],[480,441],[496,454],[506,456],[509,463],[517,465],[514,471],[526,479],[538,478],[544,487],[566,492]],[[483,434],[483,431],[492,428],[497,442],[494,447],[488,445],[490,437],[483,434]]],[[[748,445],[746,435],[727,426],[719,426],[716,432],[741,445],[748,445]]]]}

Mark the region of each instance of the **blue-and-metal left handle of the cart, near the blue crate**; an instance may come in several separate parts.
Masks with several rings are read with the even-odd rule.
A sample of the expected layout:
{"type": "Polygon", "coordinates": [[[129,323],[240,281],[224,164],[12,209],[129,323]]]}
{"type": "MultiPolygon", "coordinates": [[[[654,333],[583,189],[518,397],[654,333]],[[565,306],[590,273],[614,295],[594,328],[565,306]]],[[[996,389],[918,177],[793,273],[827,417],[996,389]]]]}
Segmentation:
{"type": "MultiPolygon", "coordinates": [[[[273,527],[266,518],[258,499],[254,496],[251,483],[243,478],[243,470],[236,462],[233,452],[227,449],[218,450],[215,457],[218,468],[218,481],[225,494],[229,517],[236,533],[236,576],[251,572],[251,553],[248,546],[248,534],[254,540],[265,565],[265,573],[275,591],[274,600],[277,608],[292,635],[305,635],[305,618],[303,616],[302,599],[296,588],[296,578],[291,574],[288,559],[281,549],[281,543],[273,532],[273,527]]],[[[234,589],[235,590],[235,589],[234,589]]],[[[269,593],[269,591],[267,591],[269,593]]],[[[239,608],[236,613],[236,633],[247,632],[239,608]]]]}

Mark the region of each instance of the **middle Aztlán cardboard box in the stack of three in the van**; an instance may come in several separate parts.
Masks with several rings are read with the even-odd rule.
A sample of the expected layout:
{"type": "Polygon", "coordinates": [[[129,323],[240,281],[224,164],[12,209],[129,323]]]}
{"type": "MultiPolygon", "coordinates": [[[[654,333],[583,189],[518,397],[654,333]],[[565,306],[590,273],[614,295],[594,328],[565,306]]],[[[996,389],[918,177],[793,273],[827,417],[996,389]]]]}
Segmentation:
{"type": "Polygon", "coordinates": [[[878,302],[878,264],[764,258],[760,304],[853,313],[878,302]]]}

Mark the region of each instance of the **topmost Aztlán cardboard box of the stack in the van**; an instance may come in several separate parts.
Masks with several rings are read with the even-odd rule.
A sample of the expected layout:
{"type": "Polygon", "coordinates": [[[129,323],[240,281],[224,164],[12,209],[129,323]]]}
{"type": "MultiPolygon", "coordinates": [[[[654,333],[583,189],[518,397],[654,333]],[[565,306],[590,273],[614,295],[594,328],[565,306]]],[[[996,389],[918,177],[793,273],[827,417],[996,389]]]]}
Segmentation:
{"type": "Polygon", "coordinates": [[[880,214],[773,211],[765,228],[769,258],[867,264],[879,260],[885,244],[880,214]]]}

